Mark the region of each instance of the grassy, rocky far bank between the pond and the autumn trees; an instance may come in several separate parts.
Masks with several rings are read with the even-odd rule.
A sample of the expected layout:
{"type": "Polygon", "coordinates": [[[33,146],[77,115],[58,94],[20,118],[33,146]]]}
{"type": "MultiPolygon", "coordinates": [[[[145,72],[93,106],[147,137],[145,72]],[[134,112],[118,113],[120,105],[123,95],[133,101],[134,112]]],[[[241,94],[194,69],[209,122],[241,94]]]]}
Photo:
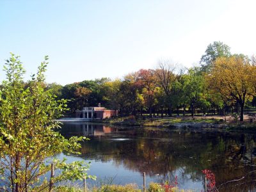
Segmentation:
{"type": "Polygon", "coordinates": [[[140,126],[140,127],[164,127],[164,128],[214,128],[225,129],[227,131],[256,131],[256,123],[237,122],[223,120],[222,116],[215,118],[203,118],[196,116],[166,117],[166,118],[135,118],[134,116],[106,118],[93,120],[93,122],[120,126],[140,126]]]}

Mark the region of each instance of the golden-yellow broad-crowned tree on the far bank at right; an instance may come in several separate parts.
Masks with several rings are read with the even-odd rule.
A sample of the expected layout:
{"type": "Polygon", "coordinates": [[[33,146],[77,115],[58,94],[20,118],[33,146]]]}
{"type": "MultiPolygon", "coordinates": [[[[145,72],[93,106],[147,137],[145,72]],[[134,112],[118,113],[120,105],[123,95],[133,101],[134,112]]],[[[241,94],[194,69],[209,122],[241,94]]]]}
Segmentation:
{"type": "Polygon", "coordinates": [[[212,72],[207,76],[212,90],[221,93],[225,100],[234,100],[241,107],[240,121],[243,122],[244,104],[255,94],[255,66],[243,57],[217,58],[212,72]]]}

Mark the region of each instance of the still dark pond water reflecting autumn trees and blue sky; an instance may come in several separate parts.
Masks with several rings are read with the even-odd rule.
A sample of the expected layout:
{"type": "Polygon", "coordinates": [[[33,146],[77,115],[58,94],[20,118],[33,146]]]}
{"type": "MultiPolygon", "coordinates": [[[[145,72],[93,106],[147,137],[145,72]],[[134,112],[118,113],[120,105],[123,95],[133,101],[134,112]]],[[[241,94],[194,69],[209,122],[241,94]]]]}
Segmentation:
{"type": "Polygon", "coordinates": [[[141,186],[145,172],[147,184],[173,182],[177,176],[179,188],[201,191],[202,170],[208,169],[215,174],[220,191],[255,190],[255,134],[110,127],[84,122],[65,122],[61,134],[90,138],[81,143],[81,155],[60,157],[90,161],[88,173],[104,182],[141,186]],[[229,182],[237,179],[241,180],[229,182]]]}

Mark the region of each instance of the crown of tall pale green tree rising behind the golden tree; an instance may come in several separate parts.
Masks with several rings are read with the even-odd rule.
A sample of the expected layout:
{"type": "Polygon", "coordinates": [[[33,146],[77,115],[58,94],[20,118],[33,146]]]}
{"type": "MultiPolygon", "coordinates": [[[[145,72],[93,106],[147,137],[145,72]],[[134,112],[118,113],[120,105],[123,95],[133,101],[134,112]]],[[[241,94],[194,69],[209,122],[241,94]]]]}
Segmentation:
{"type": "Polygon", "coordinates": [[[223,42],[213,42],[213,44],[209,44],[205,51],[205,54],[202,56],[200,60],[200,64],[202,70],[204,72],[209,72],[212,68],[212,63],[218,57],[228,57],[230,54],[230,47],[228,45],[223,44],[223,42]]]}

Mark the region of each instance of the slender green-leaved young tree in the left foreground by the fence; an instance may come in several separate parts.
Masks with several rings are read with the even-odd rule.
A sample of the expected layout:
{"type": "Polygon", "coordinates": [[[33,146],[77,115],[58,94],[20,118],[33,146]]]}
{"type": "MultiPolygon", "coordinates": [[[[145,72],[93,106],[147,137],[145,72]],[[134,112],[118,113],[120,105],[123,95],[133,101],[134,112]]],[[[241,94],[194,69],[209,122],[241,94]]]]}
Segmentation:
{"type": "Polygon", "coordinates": [[[19,56],[12,54],[6,60],[0,102],[1,191],[42,191],[52,188],[52,183],[88,178],[87,164],[52,159],[61,152],[76,153],[81,147],[77,142],[83,138],[67,140],[54,131],[60,127],[54,119],[66,110],[66,100],[56,101],[43,86],[47,60],[45,57],[28,84],[23,83],[25,70],[19,56]],[[45,177],[51,170],[49,162],[61,169],[51,182],[45,177]]]}

